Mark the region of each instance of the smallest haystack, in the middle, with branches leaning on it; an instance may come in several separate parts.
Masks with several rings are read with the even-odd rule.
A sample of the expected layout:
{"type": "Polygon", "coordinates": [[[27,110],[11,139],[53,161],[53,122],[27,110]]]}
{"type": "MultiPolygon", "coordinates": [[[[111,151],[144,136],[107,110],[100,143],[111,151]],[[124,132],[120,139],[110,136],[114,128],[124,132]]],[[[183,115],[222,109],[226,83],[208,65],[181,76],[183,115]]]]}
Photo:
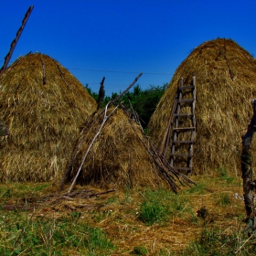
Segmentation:
{"type": "Polygon", "coordinates": [[[110,108],[106,111],[110,117],[100,132],[104,118],[101,112],[95,113],[88,123],[85,123],[67,167],[67,176],[64,177],[63,184],[73,180],[81,166],[78,182],[82,185],[124,189],[166,187],[169,183],[176,191],[176,181],[180,176],[168,172],[167,169],[159,171],[141,126],[129,118],[122,109],[110,108]],[[99,136],[90,149],[97,133],[99,136]],[[87,152],[89,154],[83,163],[82,159],[87,152]]]}

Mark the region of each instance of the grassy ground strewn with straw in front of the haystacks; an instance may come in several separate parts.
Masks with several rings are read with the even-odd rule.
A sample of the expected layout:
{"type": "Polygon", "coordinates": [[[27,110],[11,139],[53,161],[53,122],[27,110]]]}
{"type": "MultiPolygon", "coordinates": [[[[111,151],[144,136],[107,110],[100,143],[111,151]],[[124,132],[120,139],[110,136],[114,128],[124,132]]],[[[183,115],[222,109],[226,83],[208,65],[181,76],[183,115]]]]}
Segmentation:
{"type": "Polygon", "coordinates": [[[197,187],[177,195],[126,188],[90,198],[60,197],[47,183],[1,185],[0,255],[253,255],[243,201],[232,197],[240,177],[192,179],[197,187]]]}

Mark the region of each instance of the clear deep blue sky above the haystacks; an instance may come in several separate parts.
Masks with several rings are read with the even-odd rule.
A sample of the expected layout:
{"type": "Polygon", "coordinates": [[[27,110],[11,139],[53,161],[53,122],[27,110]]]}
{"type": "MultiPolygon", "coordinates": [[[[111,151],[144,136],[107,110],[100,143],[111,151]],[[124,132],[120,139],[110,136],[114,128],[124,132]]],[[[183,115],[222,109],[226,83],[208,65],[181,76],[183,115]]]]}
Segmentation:
{"type": "Polygon", "coordinates": [[[193,48],[217,37],[256,56],[255,0],[1,0],[0,68],[30,5],[11,62],[39,51],[92,91],[105,76],[107,95],[140,72],[143,89],[162,86],[193,48]]]}

